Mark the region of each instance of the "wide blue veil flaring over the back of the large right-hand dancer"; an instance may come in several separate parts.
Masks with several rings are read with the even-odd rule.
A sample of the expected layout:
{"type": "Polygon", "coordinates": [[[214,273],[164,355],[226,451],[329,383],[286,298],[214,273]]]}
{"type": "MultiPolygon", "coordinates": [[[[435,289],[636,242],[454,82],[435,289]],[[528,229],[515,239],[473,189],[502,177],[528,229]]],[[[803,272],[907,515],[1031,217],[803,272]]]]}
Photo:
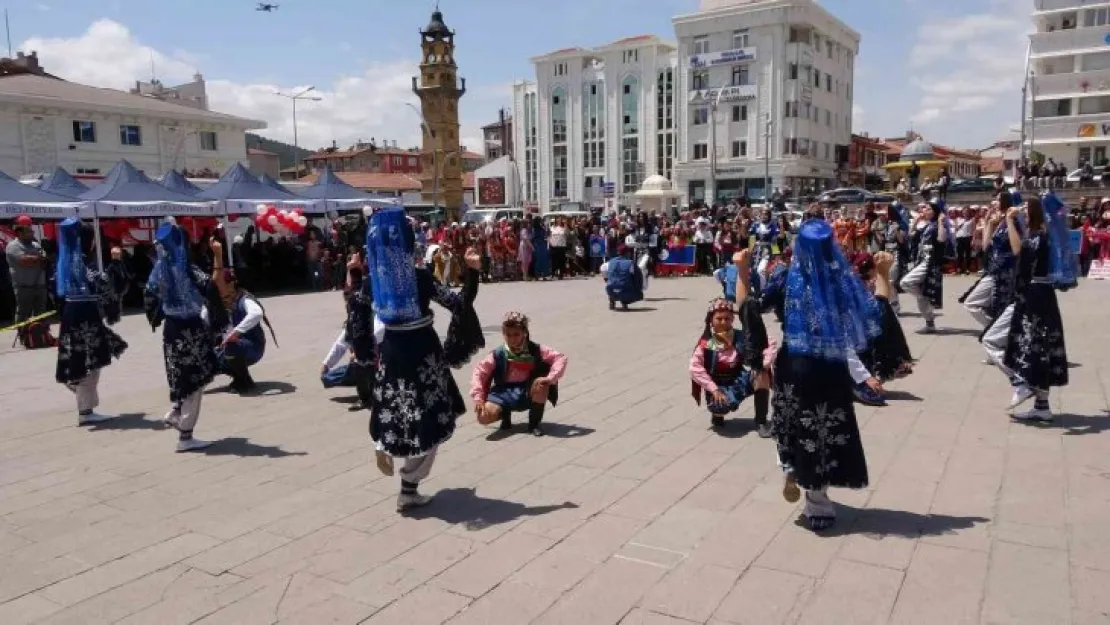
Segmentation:
{"type": "Polygon", "coordinates": [[[879,335],[877,310],[834,243],[833,228],[824,221],[804,223],[786,279],[783,341],[790,353],[845,361],[879,335]]]}

